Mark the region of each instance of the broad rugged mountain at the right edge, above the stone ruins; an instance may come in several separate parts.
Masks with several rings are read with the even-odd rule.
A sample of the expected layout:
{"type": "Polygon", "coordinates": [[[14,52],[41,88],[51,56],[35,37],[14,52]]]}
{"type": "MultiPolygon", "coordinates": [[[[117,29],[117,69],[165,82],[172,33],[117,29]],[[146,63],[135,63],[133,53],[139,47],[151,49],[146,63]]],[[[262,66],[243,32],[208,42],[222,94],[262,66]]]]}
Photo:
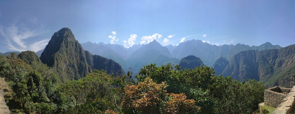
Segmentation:
{"type": "Polygon", "coordinates": [[[295,45],[281,49],[248,50],[232,57],[223,76],[232,76],[239,81],[255,79],[266,87],[289,87],[290,76],[295,71],[295,45]]]}

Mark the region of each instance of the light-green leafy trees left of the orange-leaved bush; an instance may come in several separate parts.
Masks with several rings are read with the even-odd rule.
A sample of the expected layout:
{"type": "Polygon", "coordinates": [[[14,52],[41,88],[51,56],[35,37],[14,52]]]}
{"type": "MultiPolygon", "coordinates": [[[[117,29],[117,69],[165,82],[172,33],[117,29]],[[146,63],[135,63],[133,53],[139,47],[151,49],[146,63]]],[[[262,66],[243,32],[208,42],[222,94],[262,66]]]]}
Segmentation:
{"type": "Polygon", "coordinates": [[[66,112],[103,113],[118,109],[121,88],[114,87],[116,77],[94,70],[79,80],[65,82],[59,91],[65,99],[66,112]]]}

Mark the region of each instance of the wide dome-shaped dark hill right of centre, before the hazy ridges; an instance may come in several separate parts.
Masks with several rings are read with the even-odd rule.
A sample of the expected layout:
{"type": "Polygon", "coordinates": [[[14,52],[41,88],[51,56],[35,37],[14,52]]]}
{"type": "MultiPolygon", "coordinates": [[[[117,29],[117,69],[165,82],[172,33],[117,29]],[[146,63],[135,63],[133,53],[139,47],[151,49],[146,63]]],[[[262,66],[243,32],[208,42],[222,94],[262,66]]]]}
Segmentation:
{"type": "Polygon", "coordinates": [[[180,60],[179,66],[182,70],[184,69],[194,69],[196,66],[204,66],[203,61],[196,56],[187,56],[180,60]]]}

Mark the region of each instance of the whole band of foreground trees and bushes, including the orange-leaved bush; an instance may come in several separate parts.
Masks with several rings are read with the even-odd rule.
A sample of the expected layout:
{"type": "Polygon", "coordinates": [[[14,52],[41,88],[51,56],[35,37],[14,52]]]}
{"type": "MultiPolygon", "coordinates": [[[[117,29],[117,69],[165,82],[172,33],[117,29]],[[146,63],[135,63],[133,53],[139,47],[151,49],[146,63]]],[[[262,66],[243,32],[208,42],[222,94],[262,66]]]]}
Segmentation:
{"type": "Polygon", "coordinates": [[[28,63],[0,57],[0,75],[9,82],[7,105],[13,113],[252,113],[263,102],[265,89],[255,80],[215,76],[207,66],[181,70],[170,63],[144,66],[136,83],[128,80],[132,72],[113,76],[93,70],[58,84],[55,68],[28,63]]]}

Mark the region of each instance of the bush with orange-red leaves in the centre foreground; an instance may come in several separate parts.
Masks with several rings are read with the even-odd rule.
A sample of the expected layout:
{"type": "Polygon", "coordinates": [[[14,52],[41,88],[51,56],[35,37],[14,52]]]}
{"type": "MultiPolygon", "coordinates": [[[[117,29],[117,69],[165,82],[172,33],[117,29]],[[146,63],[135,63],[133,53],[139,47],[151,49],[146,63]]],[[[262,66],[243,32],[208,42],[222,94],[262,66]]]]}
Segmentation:
{"type": "Polygon", "coordinates": [[[123,113],[198,113],[195,100],[181,94],[167,94],[165,82],[156,84],[147,78],[135,85],[127,85],[122,99],[123,113]]]}

